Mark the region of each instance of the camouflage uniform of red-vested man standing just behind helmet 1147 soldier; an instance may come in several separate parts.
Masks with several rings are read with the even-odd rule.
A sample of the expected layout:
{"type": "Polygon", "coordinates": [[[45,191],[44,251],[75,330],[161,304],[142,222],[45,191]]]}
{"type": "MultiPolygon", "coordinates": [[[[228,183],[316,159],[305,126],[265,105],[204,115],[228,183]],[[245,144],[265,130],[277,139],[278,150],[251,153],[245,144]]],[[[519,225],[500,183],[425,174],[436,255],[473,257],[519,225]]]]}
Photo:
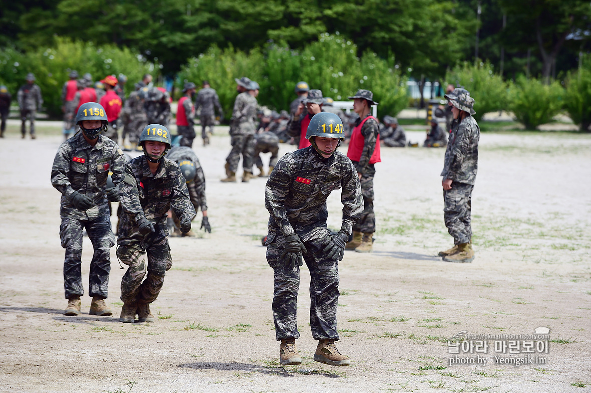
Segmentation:
{"type": "MultiPolygon", "coordinates": [[[[367,116],[371,116],[371,113],[368,113],[367,116]]],[[[358,126],[361,123],[361,120],[362,119],[357,119],[355,126],[358,126]]],[[[375,119],[367,119],[361,128],[361,135],[363,135],[363,150],[361,152],[361,158],[359,158],[359,161],[352,161],[353,165],[355,165],[356,171],[361,173],[361,192],[363,194],[363,214],[353,226],[353,230],[361,233],[375,232],[375,167],[374,164],[369,163],[369,158],[374,153],[378,134],[378,122],[376,122],[375,119]]]]}

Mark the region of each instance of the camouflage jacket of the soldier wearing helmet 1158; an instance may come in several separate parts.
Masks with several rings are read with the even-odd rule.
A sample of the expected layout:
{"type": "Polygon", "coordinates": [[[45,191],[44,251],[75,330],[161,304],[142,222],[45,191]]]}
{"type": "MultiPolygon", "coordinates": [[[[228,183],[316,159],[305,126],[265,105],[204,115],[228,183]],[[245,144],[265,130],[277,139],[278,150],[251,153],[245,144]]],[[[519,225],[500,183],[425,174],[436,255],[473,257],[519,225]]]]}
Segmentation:
{"type": "Polygon", "coordinates": [[[102,135],[94,146],[86,142],[82,132],[63,142],[51,167],[51,185],[61,193],[60,215],[79,220],[109,216],[105,194],[109,170],[113,172],[113,183],[117,185],[126,166],[127,161],[119,146],[102,135]],[[92,199],[95,206],[86,211],[76,209],[70,203],[74,191],[92,199]]]}

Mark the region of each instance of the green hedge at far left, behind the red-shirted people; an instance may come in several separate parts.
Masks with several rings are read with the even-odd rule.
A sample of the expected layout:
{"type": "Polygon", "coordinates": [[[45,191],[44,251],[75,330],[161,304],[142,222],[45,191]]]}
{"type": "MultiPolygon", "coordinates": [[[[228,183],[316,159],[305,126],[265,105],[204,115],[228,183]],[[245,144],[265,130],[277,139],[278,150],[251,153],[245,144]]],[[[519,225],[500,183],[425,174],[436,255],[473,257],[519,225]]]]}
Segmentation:
{"type": "Polygon", "coordinates": [[[154,64],[142,60],[128,48],[115,45],[97,47],[92,43],[63,38],[57,38],[56,45],[51,48],[38,48],[26,55],[12,48],[0,49],[0,84],[6,85],[9,92],[16,96],[27,73],[33,72],[37,79],[35,83],[41,87],[44,106],[51,116],[61,113],[61,87],[69,79],[70,70],[77,70],[80,76],[89,72],[95,80],[108,74],[124,73],[131,82],[125,89],[131,92],[133,83],[153,69],[154,64]]]}

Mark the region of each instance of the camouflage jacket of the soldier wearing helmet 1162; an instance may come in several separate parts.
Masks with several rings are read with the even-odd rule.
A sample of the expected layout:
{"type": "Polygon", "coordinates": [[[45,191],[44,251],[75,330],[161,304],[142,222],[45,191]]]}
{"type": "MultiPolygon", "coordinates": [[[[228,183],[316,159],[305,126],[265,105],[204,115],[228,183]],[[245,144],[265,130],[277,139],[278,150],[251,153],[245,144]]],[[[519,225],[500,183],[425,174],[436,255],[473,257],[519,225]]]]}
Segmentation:
{"type": "Polygon", "coordinates": [[[191,219],[196,216],[185,178],[178,164],[168,158],[161,161],[155,174],[152,174],[144,155],[132,158],[122,174],[119,194],[123,209],[119,222],[119,245],[144,239],[136,223],[141,216],[160,228],[165,227],[171,207],[179,219],[185,215],[191,219]]]}

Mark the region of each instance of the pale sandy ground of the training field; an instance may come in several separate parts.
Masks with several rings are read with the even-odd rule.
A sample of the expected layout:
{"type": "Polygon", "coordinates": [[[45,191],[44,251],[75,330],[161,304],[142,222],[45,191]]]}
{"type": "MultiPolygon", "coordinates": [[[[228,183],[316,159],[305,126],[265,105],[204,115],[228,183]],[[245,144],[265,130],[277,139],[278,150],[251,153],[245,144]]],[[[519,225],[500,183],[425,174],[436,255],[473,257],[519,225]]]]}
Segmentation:
{"type": "MultiPolygon", "coordinates": [[[[50,168],[58,129],[35,141],[11,125],[0,139],[0,391],[8,392],[583,392],[591,387],[591,135],[483,134],[473,194],[471,264],[441,261],[443,150],[383,148],[376,165],[375,252],[339,264],[339,349],[352,365],[312,361],[309,275],[302,270],[301,366],[278,365],[264,179],[222,184],[229,137],[204,148],[213,233],[173,238],[173,268],[152,324],[122,324],[112,249],[107,303],[113,317],[65,317],[59,193],[50,168]],[[456,333],[533,334],[550,328],[534,364],[486,353],[450,365],[456,333]],[[498,358],[495,358],[498,356],[498,358]],[[480,359],[480,364],[478,364],[480,359]],[[482,361],[486,360],[486,364],[482,361]],[[543,363],[543,362],[547,363],[543,363]]],[[[423,132],[408,132],[412,140],[423,132]]],[[[281,151],[291,150],[282,145],[281,151]]],[[[343,151],[345,149],[341,148],[343,151]]],[[[268,158],[265,158],[268,160],[268,158]]],[[[340,224],[339,194],[329,226],[340,224]]],[[[200,214],[194,221],[197,230],[200,214]]],[[[115,220],[113,220],[113,223],[115,220]]],[[[85,288],[92,246],[83,248],[85,288]]]]}

